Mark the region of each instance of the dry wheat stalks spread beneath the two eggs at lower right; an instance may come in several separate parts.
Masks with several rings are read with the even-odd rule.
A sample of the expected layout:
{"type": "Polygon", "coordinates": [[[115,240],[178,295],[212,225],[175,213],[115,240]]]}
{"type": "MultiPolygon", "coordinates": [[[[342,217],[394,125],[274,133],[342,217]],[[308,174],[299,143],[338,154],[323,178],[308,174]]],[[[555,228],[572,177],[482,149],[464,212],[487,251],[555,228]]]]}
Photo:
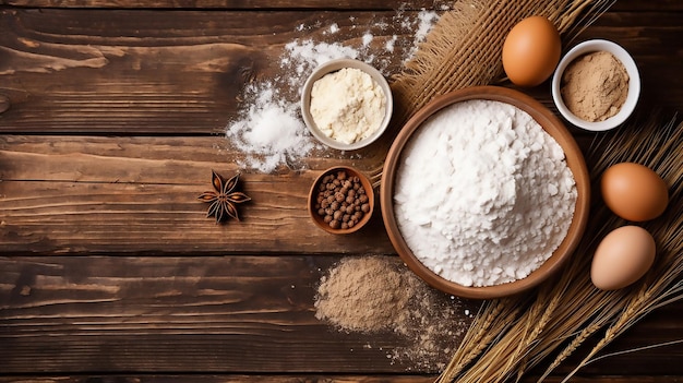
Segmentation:
{"type": "MultiPolygon", "coordinates": [[[[526,308],[515,324],[496,333],[496,342],[481,352],[476,360],[458,363],[454,356],[451,366],[458,366],[457,373],[444,371],[440,382],[503,382],[524,373],[564,346],[539,380],[547,378],[570,355],[591,336],[607,327],[601,339],[570,372],[571,379],[580,368],[595,360],[596,356],[613,339],[626,332],[642,318],[662,306],[683,299],[683,123],[671,121],[663,129],[651,119],[633,121],[622,128],[619,135],[598,140],[590,158],[594,184],[607,167],[620,161],[636,161],[655,169],[670,184],[670,205],[664,216],[646,225],[658,244],[658,261],[648,275],[635,286],[618,291],[600,291],[590,283],[590,258],[599,240],[610,230],[624,224],[606,206],[594,208],[592,225],[582,241],[572,262],[563,274],[540,287],[538,296],[526,308]],[[600,224],[602,223],[602,224],[600,224]],[[606,224],[604,224],[606,223],[606,224]],[[600,225],[600,226],[598,226],[600,225]],[[550,300],[549,300],[550,299],[550,300]],[[553,302],[551,310],[539,313],[540,308],[553,302]],[[567,344],[568,340],[568,344],[567,344]],[[468,364],[467,370],[463,364],[468,364]],[[516,370],[516,371],[515,371],[516,370]]],[[[594,206],[595,207],[595,206],[594,206]]],[[[500,300],[498,304],[522,304],[522,300],[500,300]]],[[[528,304],[528,303],[527,303],[528,304]]],[[[487,306],[481,313],[489,321],[493,311],[487,306]]],[[[496,306],[496,311],[504,308],[496,306]]],[[[475,322],[471,332],[484,328],[475,322]]],[[[491,331],[492,328],[488,328],[491,331]]],[[[492,337],[492,335],[490,336],[492,337]]],[[[462,346],[459,355],[469,355],[468,345],[462,346]]]]}

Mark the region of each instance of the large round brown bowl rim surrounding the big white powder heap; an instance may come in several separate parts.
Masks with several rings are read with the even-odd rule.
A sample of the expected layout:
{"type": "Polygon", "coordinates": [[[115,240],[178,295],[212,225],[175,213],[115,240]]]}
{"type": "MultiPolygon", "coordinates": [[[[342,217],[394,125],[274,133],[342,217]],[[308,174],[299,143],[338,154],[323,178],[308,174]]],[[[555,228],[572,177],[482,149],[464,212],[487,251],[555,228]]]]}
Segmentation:
{"type": "Polygon", "coordinates": [[[574,137],[568,133],[560,119],[558,119],[548,108],[536,99],[520,92],[498,86],[478,86],[455,91],[436,97],[433,101],[419,110],[398,133],[396,140],[390,148],[386,161],[384,163],[382,188],[380,191],[380,204],[382,206],[384,226],[386,227],[392,244],[408,267],[410,267],[428,284],[438,289],[455,296],[476,299],[491,299],[514,295],[537,286],[550,275],[555,273],[580,241],[588,219],[589,198],[590,179],[586,168],[586,163],[578,145],[576,144],[576,141],[574,141],[574,137]],[[577,201],[572,224],[566,237],[553,254],[538,270],[529,274],[526,278],[484,287],[468,287],[453,283],[424,266],[415,256],[404,240],[394,214],[395,175],[400,154],[405,145],[409,142],[412,134],[422,125],[422,122],[424,122],[429,117],[444,107],[470,99],[502,101],[516,106],[517,108],[529,113],[564,149],[566,163],[574,175],[577,190],[577,201]]]}

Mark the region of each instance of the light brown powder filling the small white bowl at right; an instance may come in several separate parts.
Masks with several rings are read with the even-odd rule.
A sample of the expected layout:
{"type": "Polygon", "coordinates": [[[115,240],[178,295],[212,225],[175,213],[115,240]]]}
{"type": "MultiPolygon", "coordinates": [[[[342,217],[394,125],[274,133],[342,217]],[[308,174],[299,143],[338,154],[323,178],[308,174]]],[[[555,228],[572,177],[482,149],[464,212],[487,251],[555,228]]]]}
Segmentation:
{"type": "Polygon", "coordinates": [[[597,51],[574,60],[564,71],[562,99],[576,117],[603,121],[616,115],[628,94],[628,73],[607,51],[597,51]]]}

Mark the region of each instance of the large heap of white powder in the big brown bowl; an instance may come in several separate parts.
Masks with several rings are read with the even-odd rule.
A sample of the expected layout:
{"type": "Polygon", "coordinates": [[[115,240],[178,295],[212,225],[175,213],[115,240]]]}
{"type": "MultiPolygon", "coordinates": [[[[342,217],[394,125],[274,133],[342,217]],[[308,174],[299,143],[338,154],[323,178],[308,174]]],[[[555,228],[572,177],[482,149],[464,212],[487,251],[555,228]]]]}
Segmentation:
{"type": "Polygon", "coordinates": [[[527,112],[487,100],[427,120],[404,149],[395,189],[415,255],[465,286],[537,270],[566,236],[577,195],[562,147],[527,112]]]}

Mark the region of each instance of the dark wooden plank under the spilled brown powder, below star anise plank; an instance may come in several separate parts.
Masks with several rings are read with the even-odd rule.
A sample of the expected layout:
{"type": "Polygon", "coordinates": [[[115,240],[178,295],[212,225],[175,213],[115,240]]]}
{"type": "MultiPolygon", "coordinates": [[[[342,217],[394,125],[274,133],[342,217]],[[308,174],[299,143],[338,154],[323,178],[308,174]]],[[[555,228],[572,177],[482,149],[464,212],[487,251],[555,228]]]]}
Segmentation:
{"type": "Polygon", "coordinates": [[[0,258],[0,371],[429,372],[433,356],[392,356],[416,338],[315,319],[315,288],[338,260],[0,258]]]}

